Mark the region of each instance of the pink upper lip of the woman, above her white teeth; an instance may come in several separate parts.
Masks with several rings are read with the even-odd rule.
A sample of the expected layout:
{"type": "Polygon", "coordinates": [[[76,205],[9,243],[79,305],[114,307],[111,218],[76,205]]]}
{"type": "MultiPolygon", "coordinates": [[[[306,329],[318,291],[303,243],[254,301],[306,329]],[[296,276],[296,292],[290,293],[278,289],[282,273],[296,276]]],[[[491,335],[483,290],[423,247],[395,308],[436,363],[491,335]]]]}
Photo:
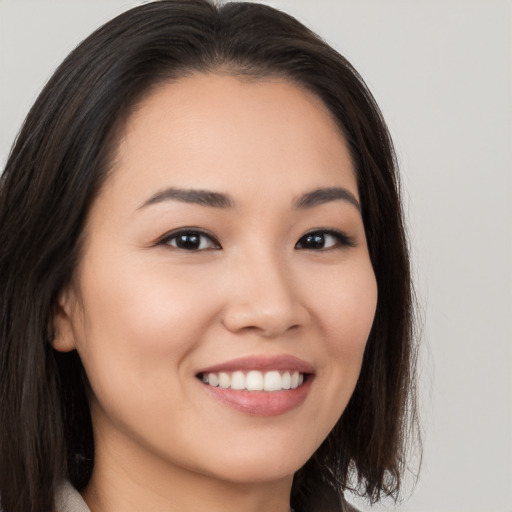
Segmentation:
{"type": "Polygon", "coordinates": [[[235,371],[298,371],[300,373],[314,373],[313,365],[298,357],[282,354],[277,356],[247,356],[231,359],[207,368],[202,368],[198,373],[219,373],[235,371]]]}

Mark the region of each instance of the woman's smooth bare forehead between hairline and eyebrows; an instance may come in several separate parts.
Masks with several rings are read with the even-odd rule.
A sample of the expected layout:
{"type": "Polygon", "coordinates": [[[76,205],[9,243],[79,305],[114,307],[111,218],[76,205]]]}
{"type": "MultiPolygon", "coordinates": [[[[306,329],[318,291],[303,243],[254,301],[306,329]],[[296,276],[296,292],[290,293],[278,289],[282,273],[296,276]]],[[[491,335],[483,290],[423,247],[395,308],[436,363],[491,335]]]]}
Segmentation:
{"type": "Polygon", "coordinates": [[[128,118],[111,176],[107,188],[148,194],[169,185],[235,194],[237,186],[267,186],[292,195],[341,185],[357,197],[331,113],[284,79],[196,74],[159,86],[128,118]]]}

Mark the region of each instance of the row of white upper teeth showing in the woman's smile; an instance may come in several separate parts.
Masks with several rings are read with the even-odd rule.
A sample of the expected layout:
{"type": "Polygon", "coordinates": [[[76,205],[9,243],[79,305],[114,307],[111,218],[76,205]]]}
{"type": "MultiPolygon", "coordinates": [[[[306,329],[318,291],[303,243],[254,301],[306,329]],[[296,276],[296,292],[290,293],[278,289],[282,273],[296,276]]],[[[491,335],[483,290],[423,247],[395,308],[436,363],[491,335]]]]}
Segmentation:
{"type": "Polygon", "coordinates": [[[304,374],[299,372],[284,372],[282,375],[277,370],[260,372],[251,370],[245,374],[242,371],[233,373],[219,372],[208,373],[202,376],[205,384],[220,388],[231,388],[247,391],[281,391],[283,389],[295,389],[304,382],[304,374]]]}

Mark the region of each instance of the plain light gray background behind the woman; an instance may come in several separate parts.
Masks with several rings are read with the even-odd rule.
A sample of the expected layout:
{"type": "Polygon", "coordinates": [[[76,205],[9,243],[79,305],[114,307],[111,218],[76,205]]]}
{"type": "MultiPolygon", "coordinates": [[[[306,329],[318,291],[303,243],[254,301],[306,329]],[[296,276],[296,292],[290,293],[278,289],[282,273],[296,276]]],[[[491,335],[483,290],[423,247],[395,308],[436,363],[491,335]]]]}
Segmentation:
{"type": "MultiPolygon", "coordinates": [[[[52,70],[138,3],[0,0],[2,167],[52,70]]],[[[395,139],[424,317],[425,431],[420,480],[398,509],[510,512],[512,2],[264,3],[298,17],[355,65],[395,139]]]]}

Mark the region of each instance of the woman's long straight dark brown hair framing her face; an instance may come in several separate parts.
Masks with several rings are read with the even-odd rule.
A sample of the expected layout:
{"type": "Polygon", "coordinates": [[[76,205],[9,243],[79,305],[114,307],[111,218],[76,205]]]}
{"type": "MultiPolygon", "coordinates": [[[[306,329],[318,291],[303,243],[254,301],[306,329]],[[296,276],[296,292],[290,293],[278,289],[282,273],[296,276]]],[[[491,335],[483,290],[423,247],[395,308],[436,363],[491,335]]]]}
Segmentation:
{"type": "Polygon", "coordinates": [[[378,285],[355,392],[295,475],[297,510],[339,510],[344,490],[396,498],[416,424],[412,285],[392,142],[339,53],[291,16],[251,3],[161,0],[110,21],[57,69],[0,178],[0,496],[4,512],[53,510],[61,478],[88,482],[94,444],[76,352],[48,340],[52,305],[80,258],[89,208],[123,120],[151,87],[191,72],[279,76],[323,100],[348,141],[378,285]]]}

